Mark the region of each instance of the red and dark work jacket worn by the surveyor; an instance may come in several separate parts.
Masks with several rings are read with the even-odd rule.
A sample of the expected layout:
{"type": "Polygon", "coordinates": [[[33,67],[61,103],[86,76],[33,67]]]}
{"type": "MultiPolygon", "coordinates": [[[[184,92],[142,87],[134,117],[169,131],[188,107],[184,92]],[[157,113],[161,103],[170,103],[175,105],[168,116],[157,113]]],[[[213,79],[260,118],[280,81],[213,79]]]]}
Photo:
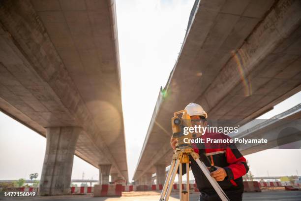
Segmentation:
{"type": "MultiPolygon", "coordinates": [[[[199,153],[201,160],[206,154],[211,162],[211,164],[209,164],[208,160],[203,158],[202,161],[206,166],[209,167],[213,165],[223,167],[226,170],[227,177],[223,181],[219,181],[218,184],[222,187],[231,201],[240,200],[237,199],[237,196],[240,197],[243,193],[242,176],[246,174],[249,169],[245,158],[241,155],[234,143],[206,143],[206,138],[231,139],[228,135],[220,133],[206,133],[202,136],[202,138],[205,139],[205,143],[192,144],[194,151],[199,153]]],[[[190,160],[190,167],[199,191],[201,193],[208,194],[209,196],[216,196],[216,193],[208,179],[193,159],[190,160]]],[[[185,165],[183,165],[182,170],[182,174],[185,174],[185,165]]]]}

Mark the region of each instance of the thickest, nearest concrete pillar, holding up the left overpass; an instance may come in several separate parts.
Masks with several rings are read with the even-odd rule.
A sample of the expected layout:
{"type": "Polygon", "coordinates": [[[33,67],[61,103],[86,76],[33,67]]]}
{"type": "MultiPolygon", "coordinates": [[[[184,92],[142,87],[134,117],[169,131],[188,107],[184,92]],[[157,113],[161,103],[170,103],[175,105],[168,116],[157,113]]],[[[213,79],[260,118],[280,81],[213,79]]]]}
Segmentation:
{"type": "Polygon", "coordinates": [[[70,191],[75,144],[82,132],[78,127],[46,129],[46,152],[39,195],[65,195],[70,191]]]}

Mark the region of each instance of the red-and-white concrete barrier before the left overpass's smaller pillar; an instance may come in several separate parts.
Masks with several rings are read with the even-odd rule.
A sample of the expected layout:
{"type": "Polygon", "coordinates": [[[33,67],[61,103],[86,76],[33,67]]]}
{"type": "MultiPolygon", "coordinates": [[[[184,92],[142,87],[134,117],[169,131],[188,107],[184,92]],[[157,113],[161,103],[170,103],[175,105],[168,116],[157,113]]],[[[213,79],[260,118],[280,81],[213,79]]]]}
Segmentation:
{"type": "Polygon", "coordinates": [[[121,197],[121,194],[122,194],[121,184],[94,185],[94,197],[121,197]]]}

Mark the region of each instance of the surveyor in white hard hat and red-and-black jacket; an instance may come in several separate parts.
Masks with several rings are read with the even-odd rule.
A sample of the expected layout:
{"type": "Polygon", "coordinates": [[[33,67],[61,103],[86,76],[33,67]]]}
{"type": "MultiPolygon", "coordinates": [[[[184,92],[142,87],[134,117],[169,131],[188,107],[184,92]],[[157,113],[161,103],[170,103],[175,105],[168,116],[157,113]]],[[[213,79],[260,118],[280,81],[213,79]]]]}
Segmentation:
{"type": "MultiPolygon", "coordinates": [[[[187,111],[187,114],[190,115],[192,126],[201,125],[202,127],[206,127],[208,125],[207,113],[201,105],[189,103],[185,107],[185,110],[187,111]]],[[[196,137],[211,137],[215,139],[229,138],[229,136],[225,134],[209,132],[206,132],[205,134],[198,133],[196,134],[196,137]]],[[[175,150],[177,139],[172,137],[170,143],[175,150]]],[[[248,172],[249,168],[245,158],[241,155],[235,144],[209,144],[205,142],[192,143],[192,146],[194,151],[199,153],[200,156],[207,156],[209,158],[209,160],[202,160],[202,157],[200,157],[207,167],[214,166],[217,168],[215,171],[211,172],[211,176],[217,181],[230,201],[241,201],[243,193],[242,176],[248,172]]],[[[197,187],[200,191],[199,201],[220,201],[219,196],[211,186],[209,180],[193,159],[190,160],[189,166],[191,167],[197,187]]],[[[183,164],[182,174],[185,173],[186,165],[183,164]]]]}

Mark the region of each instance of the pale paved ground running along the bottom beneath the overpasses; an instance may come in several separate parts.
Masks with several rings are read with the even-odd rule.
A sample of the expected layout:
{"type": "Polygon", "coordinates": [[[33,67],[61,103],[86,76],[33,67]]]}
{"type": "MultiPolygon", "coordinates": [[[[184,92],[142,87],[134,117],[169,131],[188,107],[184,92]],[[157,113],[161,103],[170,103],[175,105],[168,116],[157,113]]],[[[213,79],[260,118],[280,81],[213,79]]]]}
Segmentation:
{"type": "MultiPolygon", "coordinates": [[[[81,201],[158,201],[159,195],[150,196],[122,196],[118,198],[93,198],[90,196],[60,196],[52,197],[33,197],[33,198],[0,198],[0,200],[9,201],[65,201],[65,200],[81,200],[81,201]]],[[[191,201],[198,201],[198,194],[190,195],[191,201]]],[[[301,191],[277,191],[277,192],[261,192],[261,193],[244,193],[243,201],[300,201],[301,191]]],[[[179,201],[179,196],[173,194],[170,201],[179,201]]]]}

